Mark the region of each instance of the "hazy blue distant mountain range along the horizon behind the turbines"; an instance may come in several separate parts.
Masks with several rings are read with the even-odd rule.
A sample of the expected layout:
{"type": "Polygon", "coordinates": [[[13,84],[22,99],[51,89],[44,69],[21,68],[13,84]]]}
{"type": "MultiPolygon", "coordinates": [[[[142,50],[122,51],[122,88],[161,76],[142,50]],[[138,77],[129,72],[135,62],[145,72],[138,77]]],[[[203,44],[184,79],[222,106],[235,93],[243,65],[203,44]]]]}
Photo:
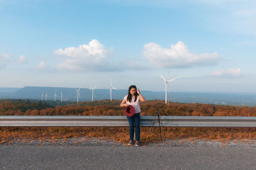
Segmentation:
{"type": "MultiPolygon", "coordinates": [[[[61,92],[63,101],[77,101],[76,88],[65,87],[24,87],[24,88],[0,88],[1,99],[36,99],[41,100],[42,93],[47,92],[47,100],[54,100],[54,93],[57,93],[57,100],[60,101],[61,92]]],[[[113,90],[112,99],[120,99],[127,94],[127,90],[113,90]]],[[[141,94],[147,100],[164,100],[164,92],[152,92],[141,90],[141,94]]],[[[242,93],[202,93],[202,92],[170,92],[169,99],[178,103],[207,103],[221,105],[256,105],[256,94],[242,93]]],[[[95,100],[110,99],[109,89],[95,89],[95,100]]],[[[79,101],[92,101],[92,90],[81,89],[79,101]]]]}

